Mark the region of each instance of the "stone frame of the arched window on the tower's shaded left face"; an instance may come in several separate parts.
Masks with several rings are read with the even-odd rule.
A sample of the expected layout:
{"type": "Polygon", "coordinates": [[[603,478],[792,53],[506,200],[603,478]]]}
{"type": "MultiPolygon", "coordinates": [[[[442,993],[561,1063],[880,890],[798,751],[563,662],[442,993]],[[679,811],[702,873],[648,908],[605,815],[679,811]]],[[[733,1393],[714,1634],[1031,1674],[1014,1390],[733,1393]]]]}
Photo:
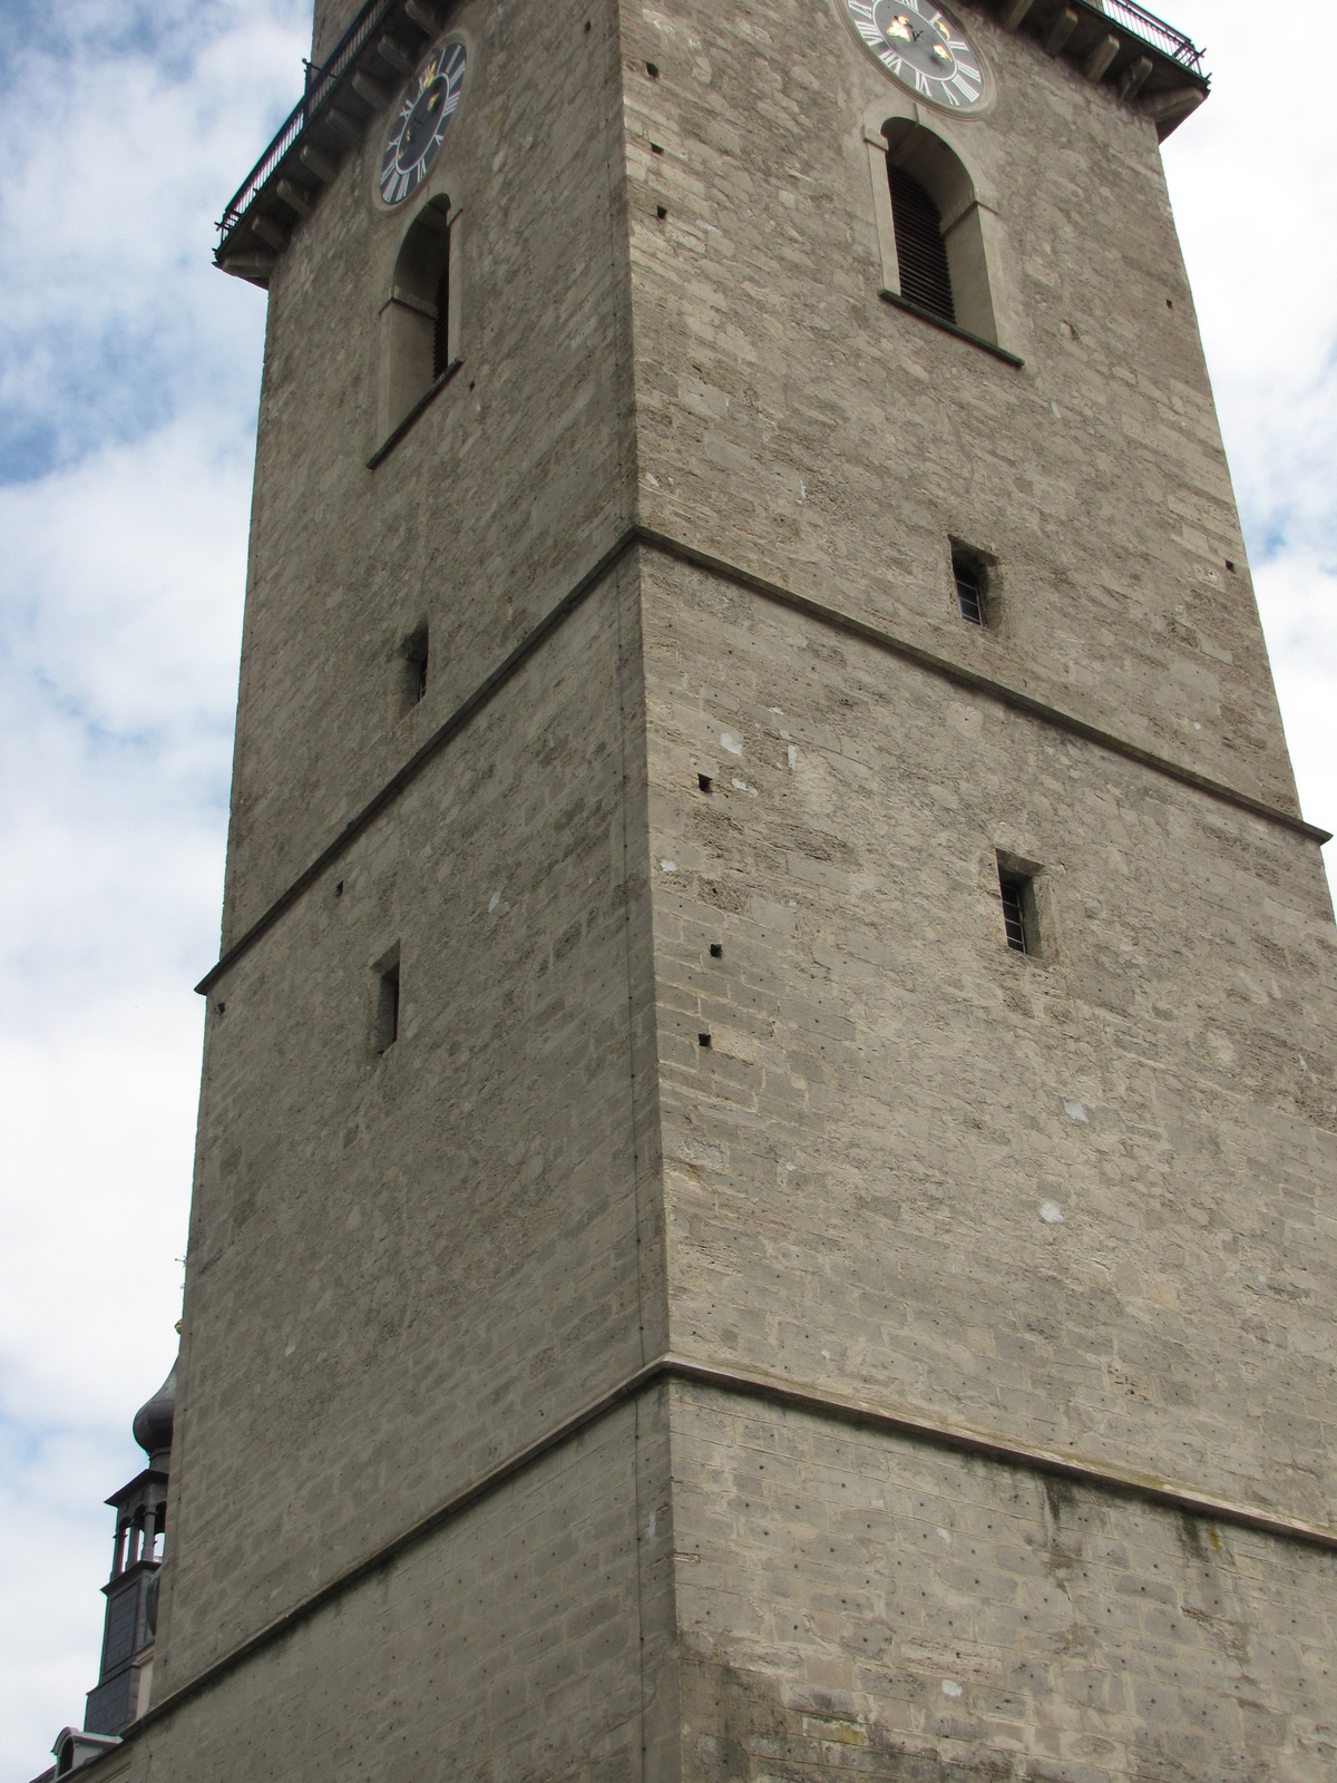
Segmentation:
{"type": "Polygon", "coordinates": [[[444,193],[437,193],[414,210],[399,232],[389,291],[378,316],[376,439],[380,444],[367,460],[369,469],[398,446],[463,364],[462,214],[462,205],[453,205],[444,193]],[[414,266],[424,239],[440,242],[447,283],[446,366],[437,374],[433,374],[433,349],[440,321],[435,305],[435,266],[426,280],[417,276],[414,266]],[[428,289],[430,285],[433,289],[428,289]]]}

